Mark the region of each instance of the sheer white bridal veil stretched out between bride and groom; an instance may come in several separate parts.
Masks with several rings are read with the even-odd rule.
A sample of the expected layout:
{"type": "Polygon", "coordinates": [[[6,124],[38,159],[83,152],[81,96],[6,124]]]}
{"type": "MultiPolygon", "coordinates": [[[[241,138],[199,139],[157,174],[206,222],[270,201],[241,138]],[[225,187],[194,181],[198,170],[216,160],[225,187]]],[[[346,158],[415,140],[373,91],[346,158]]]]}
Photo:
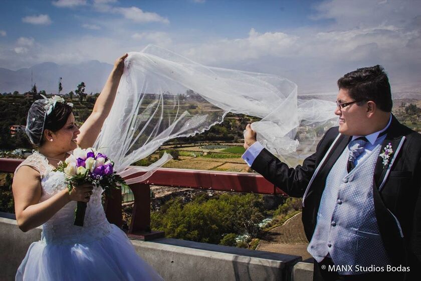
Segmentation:
{"type": "Polygon", "coordinates": [[[276,75],[208,67],[149,45],[125,60],[117,96],[95,147],[115,161],[122,176],[147,171],[129,180],[139,182],[171,157],[165,154],[148,168],[125,170],[129,165],[169,139],[221,123],[228,112],[262,118],[252,124],[258,140],[274,154],[287,156],[299,148],[299,126],[306,125],[311,134],[308,128],[335,117],[335,106],[298,99],[297,85],[276,75]]]}

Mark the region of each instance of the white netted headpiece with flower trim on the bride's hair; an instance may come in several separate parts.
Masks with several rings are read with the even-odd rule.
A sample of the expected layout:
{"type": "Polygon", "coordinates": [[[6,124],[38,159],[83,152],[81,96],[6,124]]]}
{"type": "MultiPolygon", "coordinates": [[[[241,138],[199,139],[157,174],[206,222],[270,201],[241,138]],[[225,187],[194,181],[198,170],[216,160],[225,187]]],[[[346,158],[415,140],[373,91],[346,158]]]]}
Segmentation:
{"type": "MultiPolygon", "coordinates": [[[[51,98],[47,98],[44,95],[41,96],[44,99],[38,99],[31,105],[25,128],[31,143],[37,146],[41,144],[47,116],[53,111],[57,102],[65,103],[64,98],[61,96],[54,95],[51,98]]],[[[73,103],[68,102],[67,104],[73,107],[73,103]]]]}

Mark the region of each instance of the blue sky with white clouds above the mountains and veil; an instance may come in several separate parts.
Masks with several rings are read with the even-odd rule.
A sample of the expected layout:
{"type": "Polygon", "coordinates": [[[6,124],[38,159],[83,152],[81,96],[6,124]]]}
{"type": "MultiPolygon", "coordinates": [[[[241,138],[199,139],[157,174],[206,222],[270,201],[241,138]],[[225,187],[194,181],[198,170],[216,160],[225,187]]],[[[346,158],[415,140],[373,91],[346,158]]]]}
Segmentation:
{"type": "Polygon", "coordinates": [[[148,44],[216,67],[271,73],[300,94],[382,65],[421,95],[421,1],[0,0],[0,67],[113,63],[148,44]]]}

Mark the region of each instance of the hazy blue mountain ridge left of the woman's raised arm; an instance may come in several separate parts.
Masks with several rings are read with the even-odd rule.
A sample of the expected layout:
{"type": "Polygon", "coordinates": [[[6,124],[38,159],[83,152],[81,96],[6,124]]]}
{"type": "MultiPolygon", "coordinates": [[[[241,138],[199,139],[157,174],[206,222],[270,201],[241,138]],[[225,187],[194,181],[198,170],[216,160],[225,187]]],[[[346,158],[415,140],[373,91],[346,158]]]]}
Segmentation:
{"type": "Polygon", "coordinates": [[[45,62],[16,71],[0,68],[0,92],[19,91],[22,94],[30,91],[33,83],[36,83],[38,90],[45,90],[48,94],[57,93],[59,79],[62,77],[61,94],[74,91],[82,81],[86,84],[85,92],[96,93],[102,90],[112,67],[111,64],[92,60],[66,65],[45,62]]]}

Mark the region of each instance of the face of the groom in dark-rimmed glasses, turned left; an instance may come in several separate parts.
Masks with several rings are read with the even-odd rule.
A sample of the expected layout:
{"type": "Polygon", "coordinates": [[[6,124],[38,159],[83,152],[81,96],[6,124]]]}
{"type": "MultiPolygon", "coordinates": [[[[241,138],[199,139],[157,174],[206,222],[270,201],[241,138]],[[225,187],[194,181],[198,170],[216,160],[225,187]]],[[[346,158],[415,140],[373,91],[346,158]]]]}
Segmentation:
{"type": "Polygon", "coordinates": [[[346,89],[339,90],[336,101],[345,105],[342,108],[337,106],[335,110],[335,114],[339,116],[339,132],[344,135],[365,135],[367,124],[365,106],[353,102],[355,99],[349,96],[346,89]]]}

